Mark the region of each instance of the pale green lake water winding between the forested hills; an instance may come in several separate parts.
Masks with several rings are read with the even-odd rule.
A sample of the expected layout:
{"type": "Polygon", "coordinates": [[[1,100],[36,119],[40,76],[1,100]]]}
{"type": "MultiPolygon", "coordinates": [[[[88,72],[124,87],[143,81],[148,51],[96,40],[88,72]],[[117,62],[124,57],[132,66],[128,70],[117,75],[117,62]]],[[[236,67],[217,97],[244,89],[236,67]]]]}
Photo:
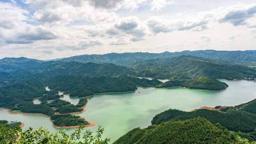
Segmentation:
{"type": "MultiPolygon", "coordinates": [[[[256,98],[256,82],[227,81],[229,88],[214,92],[205,90],[190,90],[185,88],[138,88],[134,93],[104,94],[90,97],[86,112],[82,117],[105,128],[104,137],[114,142],[121,135],[135,127],[144,128],[151,124],[152,118],[169,108],[189,111],[201,106],[232,106],[245,103],[256,98]]],[[[75,100],[75,99],[73,99],[75,100]]],[[[78,100],[78,99],[76,99],[78,100]]],[[[58,130],[71,133],[74,129],[56,129],[49,117],[37,115],[9,114],[0,109],[0,119],[20,121],[28,127],[43,127],[50,132],[58,130]]],[[[88,127],[95,131],[98,126],[88,127]]]]}

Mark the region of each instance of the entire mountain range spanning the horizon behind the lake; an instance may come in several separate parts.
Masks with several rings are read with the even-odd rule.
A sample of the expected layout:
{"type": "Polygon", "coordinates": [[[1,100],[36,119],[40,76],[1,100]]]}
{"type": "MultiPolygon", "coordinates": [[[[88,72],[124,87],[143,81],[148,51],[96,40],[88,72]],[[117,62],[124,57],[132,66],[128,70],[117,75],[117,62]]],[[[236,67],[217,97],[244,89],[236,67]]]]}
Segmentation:
{"type": "Polygon", "coordinates": [[[118,76],[121,74],[157,79],[192,79],[256,77],[248,67],[256,51],[183,51],[176,53],[123,53],[80,55],[57,61],[40,61],[25,57],[0,59],[0,86],[31,77],[59,75],[118,76]],[[180,55],[184,54],[184,55],[180,55]],[[202,58],[187,54],[212,57],[202,58]],[[205,55],[204,55],[205,54],[205,55]],[[175,56],[180,55],[180,56],[175,56]],[[224,56],[228,55],[228,56],[224,56]],[[170,58],[171,57],[171,58],[170,58]],[[218,59],[229,59],[222,61],[218,59]],[[234,61],[231,61],[234,59],[234,61]],[[251,59],[249,61],[249,59],[251,59]],[[241,61],[238,61],[241,60],[241,61]],[[131,64],[130,64],[131,63],[131,64]]]}

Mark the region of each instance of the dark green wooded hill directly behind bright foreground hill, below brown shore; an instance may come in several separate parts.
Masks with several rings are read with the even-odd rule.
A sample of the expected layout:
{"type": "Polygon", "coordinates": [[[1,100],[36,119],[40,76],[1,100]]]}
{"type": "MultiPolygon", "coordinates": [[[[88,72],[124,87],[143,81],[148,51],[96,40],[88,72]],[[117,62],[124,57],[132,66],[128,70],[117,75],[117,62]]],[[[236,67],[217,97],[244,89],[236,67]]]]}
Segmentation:
{"type": "Polygon", "coordinates": [[[208,109],[197,109],[194,112],[185,112],[169,109],[157,114],[151,121],[153,125],[166,121],[179,121],[195,117],[205,117],[213,124],[219,123],[230,131],[253,132],[256,128],[256,115],[246,111],[228,110],[226,113],[208,109]]]}

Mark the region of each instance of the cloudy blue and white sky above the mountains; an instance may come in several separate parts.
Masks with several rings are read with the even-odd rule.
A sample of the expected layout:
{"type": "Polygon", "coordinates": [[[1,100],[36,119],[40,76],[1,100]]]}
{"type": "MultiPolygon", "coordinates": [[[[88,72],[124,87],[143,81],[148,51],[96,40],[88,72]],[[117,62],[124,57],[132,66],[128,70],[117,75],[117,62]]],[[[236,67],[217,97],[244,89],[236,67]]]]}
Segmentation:
{"type": "Polygon", "coordinates": [[[256,0],[0,0],[0,58],[256,50],[256,0]]]}

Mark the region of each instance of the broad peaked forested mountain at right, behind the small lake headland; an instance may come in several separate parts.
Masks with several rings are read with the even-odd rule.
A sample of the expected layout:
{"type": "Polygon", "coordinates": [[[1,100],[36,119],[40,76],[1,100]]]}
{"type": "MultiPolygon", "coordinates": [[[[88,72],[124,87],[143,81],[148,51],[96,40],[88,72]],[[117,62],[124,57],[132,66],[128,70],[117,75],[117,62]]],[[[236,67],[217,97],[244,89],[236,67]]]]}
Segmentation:
{"type": "Polygon", "coordinates": [[[136,76],[157,79],[190,79],[199,76],[224,79],[256,77],[256,70],[247,65],[191,55],[147,60],[132,64],[130,67],[140,71],[136,76]]]}

